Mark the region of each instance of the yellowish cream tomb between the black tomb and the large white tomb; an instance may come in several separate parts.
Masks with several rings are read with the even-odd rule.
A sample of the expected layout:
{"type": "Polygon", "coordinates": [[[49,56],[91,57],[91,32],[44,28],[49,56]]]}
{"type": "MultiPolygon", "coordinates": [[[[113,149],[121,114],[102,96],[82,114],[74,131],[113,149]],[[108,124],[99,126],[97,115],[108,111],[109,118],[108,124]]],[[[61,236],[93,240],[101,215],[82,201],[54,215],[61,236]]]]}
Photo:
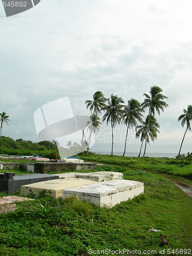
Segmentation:
{"type": "MultiPolygon", "coordinates": [[[[20,188],[20,194],[27,196],[30,193],[30,189],[35,196],[39,195],[39,192],[42,190],[50,190],[50,196],[53,198],[62,197],[62,190],[65,188],[70,187],[77,187],[83,185],[89,185],[96,183],[95,181],[91,180],[84,180],[84,179],[74,179],[74,178],[65,178],[65,179],[56,179],[44,182],[38,182],[26,186],[22,186],[20,188]]],[[[49,192],[47,193],[49,195],[49,192]]]]}

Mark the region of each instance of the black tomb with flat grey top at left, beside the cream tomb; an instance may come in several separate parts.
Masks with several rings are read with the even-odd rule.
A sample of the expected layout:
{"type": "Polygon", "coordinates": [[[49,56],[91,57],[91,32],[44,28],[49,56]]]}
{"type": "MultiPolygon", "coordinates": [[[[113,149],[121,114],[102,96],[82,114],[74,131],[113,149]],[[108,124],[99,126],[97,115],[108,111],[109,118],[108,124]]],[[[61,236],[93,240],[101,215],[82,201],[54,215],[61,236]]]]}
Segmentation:
{"type": "Polygon", "coordinates": [[[13,173],[1,174],[0,176],[0,191],[7,192],[8,195],[20,190],[23,185],[28,185],[40,181],[58,179],[58,175],[51,174],[22,174],[22,175],[11,175],[13,173]],[[13,177],[13,178],[9,178],[13,177]]]}

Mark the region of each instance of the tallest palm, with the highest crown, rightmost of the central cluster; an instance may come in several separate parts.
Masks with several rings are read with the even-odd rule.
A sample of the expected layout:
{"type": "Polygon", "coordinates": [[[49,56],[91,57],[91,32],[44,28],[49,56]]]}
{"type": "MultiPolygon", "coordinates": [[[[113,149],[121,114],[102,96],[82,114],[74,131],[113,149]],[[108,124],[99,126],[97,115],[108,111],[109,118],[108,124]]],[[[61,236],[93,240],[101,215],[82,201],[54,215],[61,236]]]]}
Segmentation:
{"type": "Polygon", "coordinates": [[[143,109],[149,108],[148,113],[150,115],[150,118],[148,119],[147,128],[146,128],[145,149],[144,149],[143,157],[145,156],[148,126],[150,124],[151,117],[152,115],[155,117],[155,110],[160,115],[160,110],[164,112],[164,108],[167,108],[168,106],[167,103],[163,101],[163,99],[167,99],[167,97],[161,94],[162,91],[163,90],[160,87],[153,86],[151,87],[150,95],[147,95],[146,93],[143,94],[146,98],[144,99],[144,102],[141,105],[143,109]]]}

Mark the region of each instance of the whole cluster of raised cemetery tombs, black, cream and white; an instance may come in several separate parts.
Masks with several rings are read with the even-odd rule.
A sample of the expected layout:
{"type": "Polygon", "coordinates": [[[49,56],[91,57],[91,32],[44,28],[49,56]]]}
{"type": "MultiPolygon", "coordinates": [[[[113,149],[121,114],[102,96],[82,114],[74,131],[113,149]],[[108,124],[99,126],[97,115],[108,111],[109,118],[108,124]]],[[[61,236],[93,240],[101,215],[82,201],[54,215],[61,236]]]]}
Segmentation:
{"type": "MultiPolygon", "coordinates": [[[[1,162],[1,164],[1,168],[5,169],[14,163],[1,162]]],[[[21,165],[16,163],[15,166],[21,165]]],[[[113,207],[144,192],[144,183],[123,180],[123,174],[118,172],[48,174],[49,172],[62,172],[63,169],[68,169],[69,172],[70,170],[93,169],[96,168],[96,163],[80,161],[77,163],[72,159],[71,162],[61,160],[58,163],[29,162],[26,166],[29,174],[15,175],[12,172],[1,174],[0,191],[10,195],[20,190],[20,194],[23,196],[32,193],[38,197],[39,193],[45,190],[54,199],[59,197],[65,199],[75,195],[101,207],[113,207]]]]}

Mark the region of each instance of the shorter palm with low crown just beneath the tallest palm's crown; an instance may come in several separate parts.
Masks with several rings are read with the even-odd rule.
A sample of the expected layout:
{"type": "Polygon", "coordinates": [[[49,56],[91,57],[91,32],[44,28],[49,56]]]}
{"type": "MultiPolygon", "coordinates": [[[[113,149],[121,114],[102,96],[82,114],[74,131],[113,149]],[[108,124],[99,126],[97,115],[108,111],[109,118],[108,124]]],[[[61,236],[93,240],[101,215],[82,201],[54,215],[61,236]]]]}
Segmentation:
{"type": "Polygon", "coordinates": [[[157,120],[154,116],[148,115],[145,119],[145,121],[142,121],[141,125],[138,125],[136,127],[136,138],[139,138],[141,136],[141,147],[138,157],[141,155],[141,149],[144,140],[147,141],[148,144],[150,144],[150,138],[154,142],[155,139],[157,139],[157,133],[160,133],[158,128],[160,127],[159,123],[157,123],[157,120]],[[149,121],[150,120],[150,121],[149,121]],[[147,130],[148,127],[148,130],[147,130]],[[147,137],[146,137],[146,131],[147,131],[147,137]]]}

